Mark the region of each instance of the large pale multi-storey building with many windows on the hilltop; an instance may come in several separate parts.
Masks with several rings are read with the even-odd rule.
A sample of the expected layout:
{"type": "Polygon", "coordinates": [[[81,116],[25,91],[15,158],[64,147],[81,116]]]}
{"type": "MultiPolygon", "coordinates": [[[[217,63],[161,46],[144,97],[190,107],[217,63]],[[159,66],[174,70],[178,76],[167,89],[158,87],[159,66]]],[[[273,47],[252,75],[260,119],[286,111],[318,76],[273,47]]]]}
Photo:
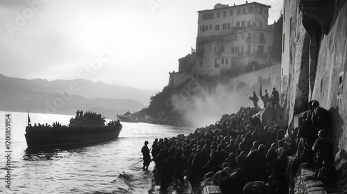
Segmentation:
{"type": "Polygon", "coordinates": [[[268,25],[269,8],[246,1],[233,6],[217,3],[212,10],[198,11],[196,50],[178,60],[178,72],[169,73],[169,85],[175,87],[188,78],[230,78],[270,67],[274,25],[268,25]]]}

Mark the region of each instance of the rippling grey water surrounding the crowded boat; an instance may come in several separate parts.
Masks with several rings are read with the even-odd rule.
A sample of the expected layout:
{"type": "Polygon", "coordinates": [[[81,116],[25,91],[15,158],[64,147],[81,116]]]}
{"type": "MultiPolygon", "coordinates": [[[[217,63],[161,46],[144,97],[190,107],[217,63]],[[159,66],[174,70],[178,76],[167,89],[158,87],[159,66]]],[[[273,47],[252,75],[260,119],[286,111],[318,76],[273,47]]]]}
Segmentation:
{"type": "MultiPolygon", "coordinates": [[[[24,137],[27,113],[11,112],[11,189],[5,182],[6,112],[0,112],[0,193],[159,193],[153,186],[153,162],[142,170],[144,141],[189,134],[192,128],[122,123],[118,139],[79,148],[31,151],[24,137]]],[[[31,123],[69,123],[71,116],[30,114],[31,123]]],[[[169,193],[180,193],[177,190],[169,193]]]]}

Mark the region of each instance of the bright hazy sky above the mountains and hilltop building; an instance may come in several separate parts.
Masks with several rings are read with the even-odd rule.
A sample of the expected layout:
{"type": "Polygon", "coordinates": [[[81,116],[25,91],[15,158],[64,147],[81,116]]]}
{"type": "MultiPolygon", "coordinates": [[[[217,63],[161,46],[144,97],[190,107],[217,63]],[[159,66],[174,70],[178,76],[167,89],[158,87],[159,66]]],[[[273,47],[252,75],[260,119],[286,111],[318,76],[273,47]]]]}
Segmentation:
{"type": "MultiPolygon", "coordinates": [[[[283,1],[257,2],[273,24],[283,1]]],[[[1,0],[0,73],[161,90],[195,48],[197,11],[216,3],[246,1],[1,0]]]]}

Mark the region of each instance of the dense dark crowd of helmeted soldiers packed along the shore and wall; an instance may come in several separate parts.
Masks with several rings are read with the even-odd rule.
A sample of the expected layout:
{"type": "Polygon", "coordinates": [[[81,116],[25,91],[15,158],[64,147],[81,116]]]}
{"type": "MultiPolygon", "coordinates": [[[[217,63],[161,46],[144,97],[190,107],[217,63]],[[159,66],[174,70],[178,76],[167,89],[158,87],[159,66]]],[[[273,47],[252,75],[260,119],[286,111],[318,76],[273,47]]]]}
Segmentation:
{"type": "MultiPolygon", "coordinates": [[[[317,109],[319,106],[314,101],[310,103],[314,109],[306,114],[312,117],[312,126],[318,126],[314,131],[318,134],[317,130],[322,130],[325,124],[320,121],[322,117],[317,116],[321,115],[321,109],[317,109]]],[[[155,139],[151,154],[155,161],[155,177],[160,180],[160,190],[167,190],[173,181],[183,183],[183,177],[187,175],[192,188],[198,186],[201,180],[213,177],[223,193],[253,193],[255,190],[260,193],[282,193],[287,184],[287,157],[299,152],[296,161],[303,162],[300,152],[303,132],[307,129],[301,127],[299,132],[285,136],[286,125],[260,127],[260,119],[253,116],[258,111],[257,107],[241,108],[237,114],[223,116],[213,126],[214,130],[206,133],[196,130],[188,136],[180,134],[171,139],[155,139]]],[[[322,151],[325,149],[322,146],[331,141],[324,136],[325,131],[320,132],[322,136],[314,139],[316,143],[308,140],[310,150],[316,154],[316,157],[312,155],[316,170],[327,158],[331,164],[331,157],[327,157],[326,150],[322,151]]],[[[151,157],[148,148],[143,153],[145,169],[151,157]]]]}

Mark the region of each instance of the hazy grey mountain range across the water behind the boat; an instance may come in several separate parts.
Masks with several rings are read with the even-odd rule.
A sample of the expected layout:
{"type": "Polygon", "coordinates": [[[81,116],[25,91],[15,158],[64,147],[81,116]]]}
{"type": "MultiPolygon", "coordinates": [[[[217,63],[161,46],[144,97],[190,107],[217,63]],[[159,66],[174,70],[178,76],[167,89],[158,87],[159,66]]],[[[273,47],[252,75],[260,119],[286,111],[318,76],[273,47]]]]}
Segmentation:
{"type": "Polygon", "coordinates": [[[0,74],[0,110],[75,114],[76,108],[108,118],[137,112],[149,104],[151,91],[90,80],[26,80],[0,74]]]}

